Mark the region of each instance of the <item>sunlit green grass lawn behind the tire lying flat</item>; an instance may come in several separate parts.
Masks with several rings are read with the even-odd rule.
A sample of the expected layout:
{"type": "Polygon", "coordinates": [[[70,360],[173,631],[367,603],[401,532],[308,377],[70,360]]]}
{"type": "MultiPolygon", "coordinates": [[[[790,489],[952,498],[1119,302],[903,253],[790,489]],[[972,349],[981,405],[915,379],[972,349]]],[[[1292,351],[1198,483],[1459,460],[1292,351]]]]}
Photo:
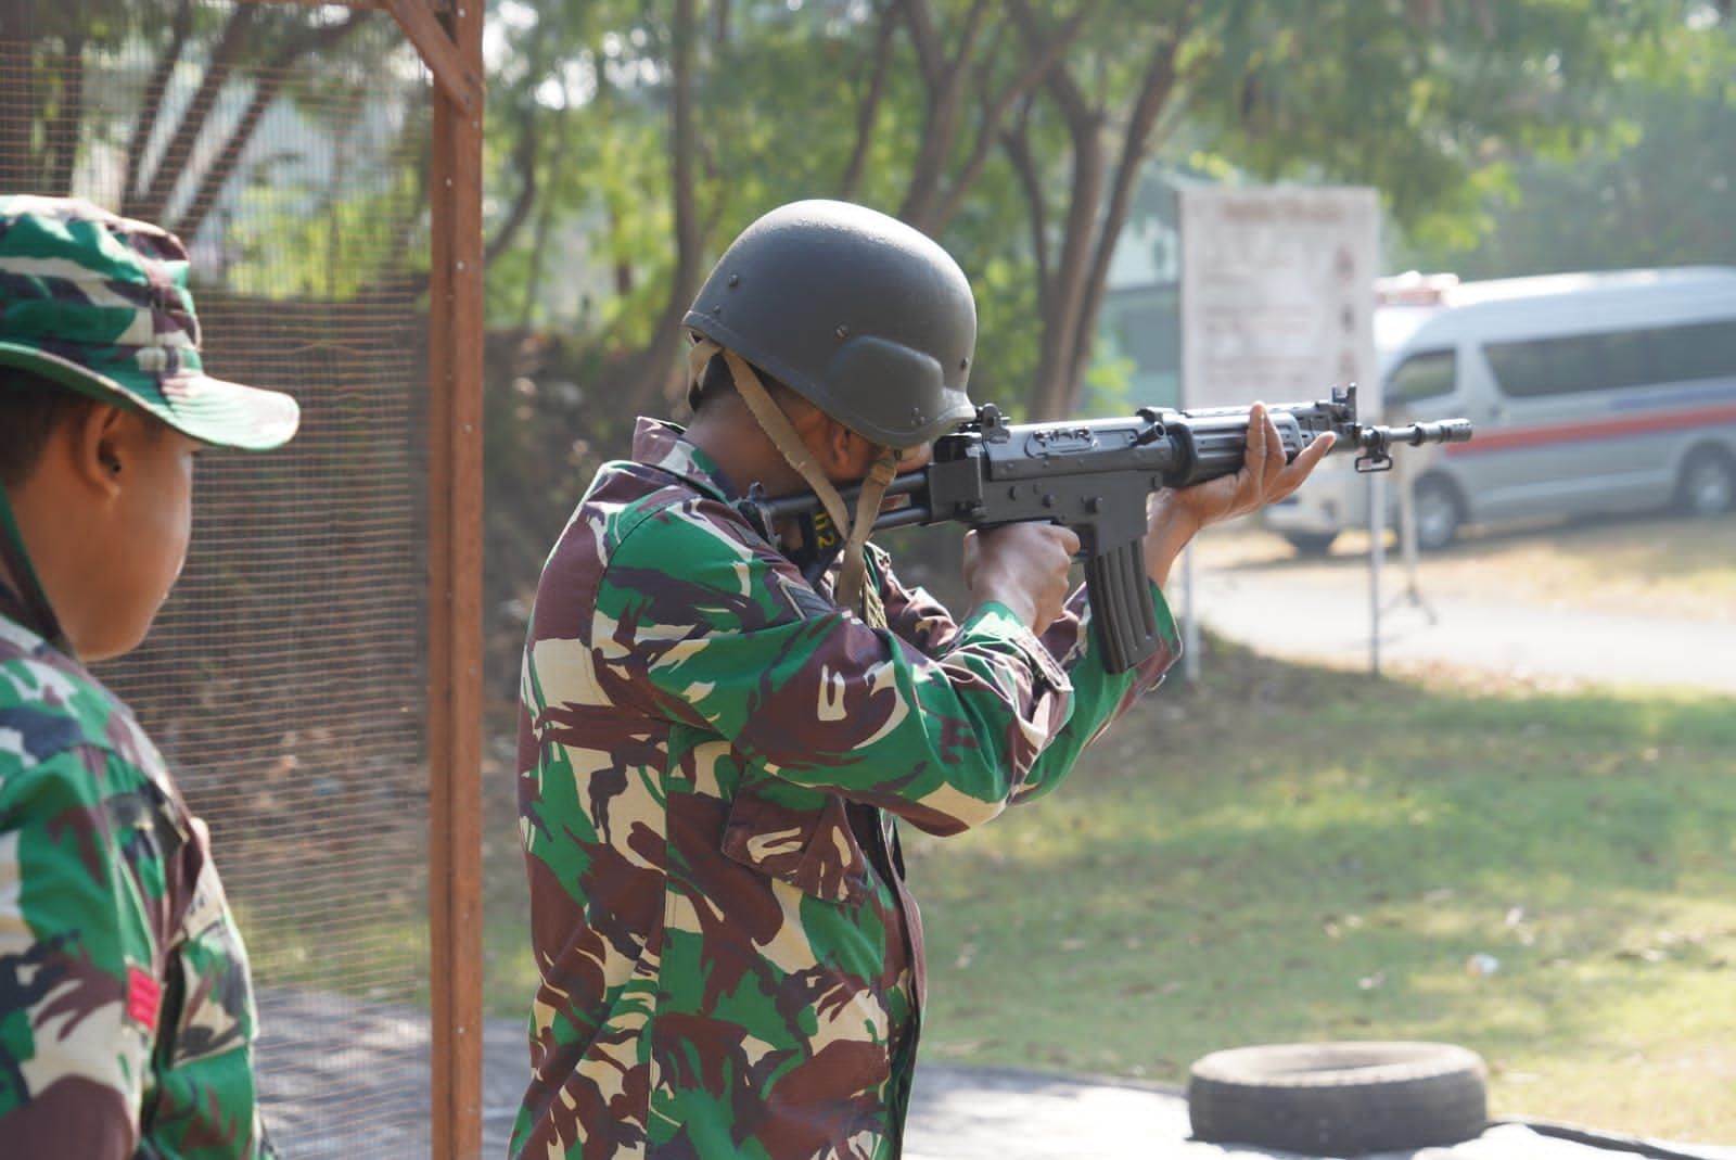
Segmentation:
{"type": "Polygon", "coordinates": [[[1050,799],[911,842],[930,1059],[1182,1082],[1439,1038],[1495,1115],[1736,1141],[1727,700],[1213,670],[1050,799]]]}

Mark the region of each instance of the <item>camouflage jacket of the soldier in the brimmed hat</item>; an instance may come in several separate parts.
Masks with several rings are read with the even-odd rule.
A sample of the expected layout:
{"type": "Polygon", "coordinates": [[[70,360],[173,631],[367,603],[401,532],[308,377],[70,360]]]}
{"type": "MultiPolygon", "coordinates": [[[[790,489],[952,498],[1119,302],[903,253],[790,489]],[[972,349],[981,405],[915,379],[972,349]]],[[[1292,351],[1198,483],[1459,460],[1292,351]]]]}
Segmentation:
{"type": "Polygon", "coordinates": [[[0,1151],[273,1157],[247,955],[132,714],[0,585],[0,1151]]]}

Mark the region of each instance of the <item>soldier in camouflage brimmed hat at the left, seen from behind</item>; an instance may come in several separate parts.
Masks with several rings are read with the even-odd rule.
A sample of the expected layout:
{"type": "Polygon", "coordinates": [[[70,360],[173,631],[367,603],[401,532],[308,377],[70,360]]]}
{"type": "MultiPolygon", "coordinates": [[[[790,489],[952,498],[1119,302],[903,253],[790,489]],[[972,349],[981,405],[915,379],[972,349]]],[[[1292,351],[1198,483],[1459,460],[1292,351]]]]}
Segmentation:
{"type": "Polygon", "coordinates": [[[253,995],[210,840],[85,662],[174,587],[193,457],[295,401],[212,379],[181,241],[0,196],[0,1141],[7,1155],[273,1157],[253,995]]]}

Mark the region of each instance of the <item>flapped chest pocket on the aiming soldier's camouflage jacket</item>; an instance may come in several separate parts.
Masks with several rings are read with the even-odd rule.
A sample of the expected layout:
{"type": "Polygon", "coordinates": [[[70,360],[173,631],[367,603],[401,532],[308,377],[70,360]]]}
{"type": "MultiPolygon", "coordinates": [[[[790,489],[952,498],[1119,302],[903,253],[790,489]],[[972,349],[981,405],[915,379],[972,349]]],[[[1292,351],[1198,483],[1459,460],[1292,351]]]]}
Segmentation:
{"type": "Polygon", "coordinates": [[[724,856],[833,903],[868,894],[863,856],[842,797],[816,794],[814,806],[776,801],[767,788],[743,785],[724,823],[724,856]]]}

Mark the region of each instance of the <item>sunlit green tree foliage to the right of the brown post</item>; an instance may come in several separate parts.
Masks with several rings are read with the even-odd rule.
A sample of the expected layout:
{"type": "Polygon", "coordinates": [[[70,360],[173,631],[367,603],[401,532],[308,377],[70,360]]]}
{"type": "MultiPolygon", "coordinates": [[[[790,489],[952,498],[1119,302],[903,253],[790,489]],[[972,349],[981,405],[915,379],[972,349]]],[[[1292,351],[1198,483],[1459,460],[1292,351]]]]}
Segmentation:
{"type": "MultiPolygon", "coordinates": [[[[1014,9],[986,26],[967,23],[970,9],[965,0],[885,9],[696,3],[691,191],[707,254],[792,198],[842,194],[898,212],[939,129],[937,92],[924,82],[911,31],[911,14],[924,14],[951,75],[969,82],[970,97],[957,109],[963,132],[941,139],[950,151],[939,158],[943,186],[963,182],[967,196],[941,238],[981,288],[977,375],[995,398],[1026,392],[1054,340],[1049,328],[1059,325],[1057,302],[1045,299],[1054,287],[1033,293],[1019,283],[1035,281],[1043,247],[1049,278],[1062,257],[1088,260],[1055,247],[1071,198],[1101,186],[1076,184],[1080,125],[1062,115],[1054,83],[998,113],[1002,132],[1031,149],[1031,184],[1000,144],[972,168],[974,130],[995,94],[1031,66],[1033,36],[1055,35],[1076,12],[1087,16],[1057,68],[1094,111],[1090,132],[1111,165],[1137,167],[1156,149],[1224,179],[1373,184],[1404,234],[1436,250],[1476,247],[1533,158],[1630,139],[1642,111],[1623,116],[1625,85],[1665,75],[1712,85],[1720,76],[1705,47],[1706,23],[1691,21],[1710,9],[1689,0],[1109,0],[1088,10],[1057,2],[1029,5],[1033,36],[1021,35],[1014,9]],[[891,35],[877,59],[882,21],[891,35]],[[1177,83],[1158,134],[1121,156],[1134,94],[1175,36],[1177,83]],[[1167,153],[1163,141],[1184,122],[1189,132],[1174,137],[1180,153],[1167,153]],[[854,184],[849,174],[859,174],[854,184]],[[1031,191],[1043,194],[1040,205],[1031,191]]],[[[550,320],[583,326],[611,349],[654,342],[675,269],[668,111],[677,16],[625,0],[516,2],[496,16],[503,50],[490,148],[507,158],[538,123],[538,214],[582,222],[589,234],[583,252],[594,269],[580,276],[594,309],[550,320]]],[[[490,172],[514,184],[510,165],[491,163],[490,172]]],[[[491,205],[509,201],[503,193],[491,205]]],[[[517,257],[491,267],[496,311],[524,318],[523,304],[545,293],[538,278],[571,278],[529,259],[547,252],[550,236],[559,234],[521,233],[509,250],[517,257]]],[[[1102,240],[1109,243],[1113,236],[1102,240]]]]}

